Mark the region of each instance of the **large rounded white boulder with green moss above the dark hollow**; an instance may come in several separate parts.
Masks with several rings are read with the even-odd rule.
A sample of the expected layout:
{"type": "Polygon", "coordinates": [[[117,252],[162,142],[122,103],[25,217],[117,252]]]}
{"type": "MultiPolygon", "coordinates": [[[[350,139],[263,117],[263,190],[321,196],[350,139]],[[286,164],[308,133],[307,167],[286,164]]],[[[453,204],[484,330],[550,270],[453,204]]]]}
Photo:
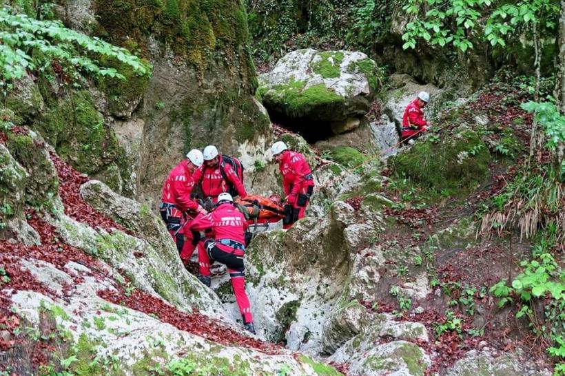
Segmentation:
{"type": "Polygon", "coordinates": [[[378,90],[376,64],[362,52],[297,50],[259,76],[267,109],[289,118],[331,122],[333,133],[358,127],[378,90]]]}

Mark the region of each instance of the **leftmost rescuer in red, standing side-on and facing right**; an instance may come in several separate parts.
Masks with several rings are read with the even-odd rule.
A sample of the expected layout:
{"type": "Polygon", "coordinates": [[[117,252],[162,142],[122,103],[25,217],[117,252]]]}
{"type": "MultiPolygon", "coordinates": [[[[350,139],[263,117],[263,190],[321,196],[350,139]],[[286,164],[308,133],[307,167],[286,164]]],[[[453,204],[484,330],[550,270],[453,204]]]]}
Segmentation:
{"type": "MultiPolygon", "coordinates": [[[[188,217],[195,217],[198,213],[206,213],[201,205],[190,198],[194,187],[192,176],[196,169],[202,166],[203,162],[204,158],[200,150],[192,149],[188,152],[187,158],[176,165],[165,180],[161,205],[159,205],[161,218],[163,218],[167,230],[176,242],[176,249],[181,253],[181,258],[186,260],[192,255],[196,242],[194,235],[183,229],[183,222],[188,217]],[[185,236],[187,242],[185,242],[185,236]]],[[[196,241],[198,240],[196,239],[196,241]]]]}

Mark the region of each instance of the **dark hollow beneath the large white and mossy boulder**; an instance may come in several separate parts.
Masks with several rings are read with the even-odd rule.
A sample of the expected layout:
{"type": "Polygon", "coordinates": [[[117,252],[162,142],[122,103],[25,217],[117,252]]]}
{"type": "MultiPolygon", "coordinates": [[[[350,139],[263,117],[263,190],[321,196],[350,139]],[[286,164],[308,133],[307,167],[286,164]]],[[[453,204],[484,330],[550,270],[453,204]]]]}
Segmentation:
{"type": "Polygon", "coordinates": [[[273,123],[291,132],[300,134],[310,145],[335,136],[333,132],[331,132],[331,124],[329,121],[318,121],[306,117],[290,118],[285,114],[273,110],[268,110],[267,112],[269,112],[269,117],[273,123]]]}

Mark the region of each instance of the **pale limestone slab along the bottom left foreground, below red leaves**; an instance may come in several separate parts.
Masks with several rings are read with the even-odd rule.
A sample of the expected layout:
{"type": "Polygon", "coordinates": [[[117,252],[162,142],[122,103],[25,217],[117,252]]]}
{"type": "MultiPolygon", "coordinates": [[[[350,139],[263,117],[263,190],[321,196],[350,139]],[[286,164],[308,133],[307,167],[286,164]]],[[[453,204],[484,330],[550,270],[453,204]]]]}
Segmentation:
{"type": "MultiPolygon", "coordinates": [[[[66,342],[79,343],[88,353],[114,362],[114,370],[121,375],[149,374],[151,370],[174,369],[174,364],[185,362],[196,369],[206,369],[218,375],[245,372],[246,375],[276,375],[285,370],[292,375],[315,376],[315,369],[327,367],[309,357],[296,359],[289,351],[267,355],[252,348],[225,346],[203,337],[181,331],[158,317],[112,304],[97,295],[98,291],[116,291],[115,282],[74,262],[64,271],[48,262],[21,260],[23,269],[32,273],[45,286],[63,293],[65,285],[72,285],[72,293],[58,299],[34,291],[17,291],[11,296],[12,307],[28,322],[30,328],[41,328],[45,322],[54,327],[50,335],[63,335],[66,342]],[[81,275],[81,282],[76,277],[81,275]],[[99,277],[95,277],[98,275],[99,277]],[[47,317],[47,318],[46,318],[47,317]],[[56,327],[56,329],[55,329],[56,327]]],[[[107,272],[103,267],[103,272],[107,272]]],[[[229,328],[229,324],[225,324],[229,328]]],[[[83,350],[84,351],[84,350],[83,350]]],[[[25,354],[3,353],[3,361],[14,364],[25,362],[25,354]]],[[[78,355],[78,354],[77,354],[78,355]]],[[[80,355],[79,355],[80,357],[80,355]]],[[[76,362],[82,362],[77,360],[76,362]]],[[[89,366],[85,369],[96,374],[108,368],[89,366]]],[[[177,366],[178,367],[178,366],[177,366]]],[[[188,368],[183,368],[188,369],[188,368]]],[[[161,372],[161,371],[160,371],[161,372]]],[[[335,372],[335,370],[333,371],[335,372]]],[[[337,374],[337,373],[336,373],[337,374]]]]}

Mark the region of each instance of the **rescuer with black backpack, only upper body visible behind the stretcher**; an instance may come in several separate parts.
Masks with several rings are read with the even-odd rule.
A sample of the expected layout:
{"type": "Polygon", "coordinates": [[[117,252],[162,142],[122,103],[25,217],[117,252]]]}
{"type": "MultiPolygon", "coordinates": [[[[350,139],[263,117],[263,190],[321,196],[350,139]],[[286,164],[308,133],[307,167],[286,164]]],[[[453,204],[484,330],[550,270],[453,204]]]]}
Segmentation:
{"type": "Polygon", "coordinates": [[[194,182],[202,183],[204,198],[212,198],[215,203],[218,196],[229,192],[230,186],[241,198],[247,196],[243,182],[234,171],[234,167],[225,163],[214,145],[208,145],[203,151],[204,164],[194,172],[194,182]]]}

